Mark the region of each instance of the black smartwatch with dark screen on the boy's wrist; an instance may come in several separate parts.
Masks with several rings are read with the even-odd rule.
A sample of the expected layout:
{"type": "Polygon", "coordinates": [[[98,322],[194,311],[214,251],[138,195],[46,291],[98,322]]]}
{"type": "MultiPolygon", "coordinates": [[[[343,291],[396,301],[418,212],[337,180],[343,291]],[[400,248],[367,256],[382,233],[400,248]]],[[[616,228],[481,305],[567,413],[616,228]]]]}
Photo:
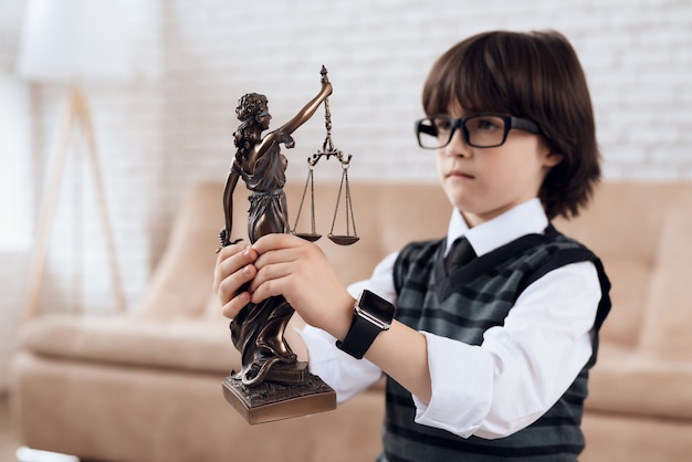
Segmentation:
{"type": "Polygon", "coordinates": [[[337,348],[356,359],[361,359],[370,348],[375,337],[389,329],[394,319],[394,305],[385,298],[365,290],[354,308],[354,318],[344,342],[336,342],[337,348]]]}

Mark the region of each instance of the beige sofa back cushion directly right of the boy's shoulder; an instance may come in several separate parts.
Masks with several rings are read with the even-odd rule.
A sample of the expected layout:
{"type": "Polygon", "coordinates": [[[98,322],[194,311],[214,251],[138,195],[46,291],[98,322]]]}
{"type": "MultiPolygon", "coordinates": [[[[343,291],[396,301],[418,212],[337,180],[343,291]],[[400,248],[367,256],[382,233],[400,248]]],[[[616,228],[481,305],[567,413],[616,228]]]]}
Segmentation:
{"type": "Polygon", "coordinates": [[[661,203],[674,188],[605,182],[578,218],[555,221],[557,229],[600,256],[612,282],[612,309],[601,330],[604,339],[628,347],[639,343],[663,235],[665,208],[661,203]]]}

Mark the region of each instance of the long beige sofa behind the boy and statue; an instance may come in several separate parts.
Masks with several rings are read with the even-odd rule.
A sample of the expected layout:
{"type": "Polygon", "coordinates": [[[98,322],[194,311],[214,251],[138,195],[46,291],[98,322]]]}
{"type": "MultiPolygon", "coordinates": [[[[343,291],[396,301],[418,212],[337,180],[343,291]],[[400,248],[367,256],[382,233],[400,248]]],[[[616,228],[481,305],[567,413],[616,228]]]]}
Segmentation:
{"type": "MultiPolygon", "coordinates": [[[[187,196],[136,312],[44,316],[24,326],[11,391],[28,445],[120,462],[375,458],[381,386],[335,411],[261,426],[249,426],[224,401],[221,381],[239,355],[210,291],[222,187],[198,185],[187,196]]],[[[316,188],[324,234],[336,190],[316,188]]],[[[406,242],[445,231],[450,208],[436,185],[352,190],[360,241],[318,241],[344,282],[366,277],[406,242]]],[[[286,191],[297,204],[302,185],[286,191]]],[[[237,191],[239,227],[245,197],[237,191]]],[[[584,461],[692,454],[691,211],[692,185],[606,183],[583,217],[556,223],[602,256],[614,285],[587,400],[584,461]]]]}

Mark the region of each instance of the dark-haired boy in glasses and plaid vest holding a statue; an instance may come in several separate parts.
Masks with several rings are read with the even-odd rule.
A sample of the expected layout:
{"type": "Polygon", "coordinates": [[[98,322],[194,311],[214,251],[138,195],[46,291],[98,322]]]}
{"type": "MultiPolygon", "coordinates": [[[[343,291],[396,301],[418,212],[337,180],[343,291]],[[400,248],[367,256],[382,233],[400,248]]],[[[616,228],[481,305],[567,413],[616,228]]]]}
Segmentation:
{"type": "Polygon", "coordinates": [[[576,460],[610,308],[600,261],[549,223],[577,216],[600,175],[578,59],[555,32],[479,34],[433,65],[423,108],[418,143],[453,206],[447,237],[385,259],[350,287],[365,294],[355,311],[314,244],[229,246],[223,313],[283,295],[308,324],[289,343],[339,401],[384,372],[380,461],[576,460]]]}

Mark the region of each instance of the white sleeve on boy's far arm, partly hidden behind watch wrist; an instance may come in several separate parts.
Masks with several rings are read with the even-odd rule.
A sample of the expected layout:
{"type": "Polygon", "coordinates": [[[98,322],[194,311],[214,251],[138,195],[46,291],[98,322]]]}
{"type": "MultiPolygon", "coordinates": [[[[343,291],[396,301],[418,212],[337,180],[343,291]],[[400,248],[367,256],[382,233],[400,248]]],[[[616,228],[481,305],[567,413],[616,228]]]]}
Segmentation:
{"type": "MultiPolygon", "coordinates": [[[[348,292],[357,297],[368,288],[382,298],[395,303],[392,269],[398,253],[385,258],[374,270],[369,280],[348,286],[348,292]]],[[[310,355],[310,370],[319,376],[336,391],[338,403],[347,401],[365,390],[382,376],[379,367],[367,359],[356,359],[336,347],[336,338],[326,332],[305,326],[300,332],[310,355]]]]}

